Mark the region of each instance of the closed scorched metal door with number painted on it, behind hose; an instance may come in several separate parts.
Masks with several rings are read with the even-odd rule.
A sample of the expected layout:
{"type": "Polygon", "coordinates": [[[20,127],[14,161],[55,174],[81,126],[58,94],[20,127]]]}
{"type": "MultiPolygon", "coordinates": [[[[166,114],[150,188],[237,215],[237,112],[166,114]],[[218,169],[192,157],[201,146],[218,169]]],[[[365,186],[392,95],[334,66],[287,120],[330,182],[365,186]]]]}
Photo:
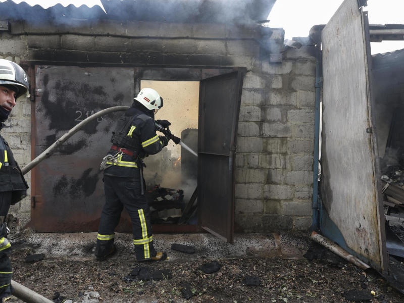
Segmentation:
{"type": "MultiPolygon", "coordinates": [[[[33,156],[87,116],[113,106],[130,106],[133,74],[132,68],[36,66],[33,156]]],[[[39,232],[97,231],[105,203],[99,165],[120,115],[89,123],[34,168],[31,227],[39,232]]],[[[117,231],[131,231],[127,215],[117,231]]]]}

